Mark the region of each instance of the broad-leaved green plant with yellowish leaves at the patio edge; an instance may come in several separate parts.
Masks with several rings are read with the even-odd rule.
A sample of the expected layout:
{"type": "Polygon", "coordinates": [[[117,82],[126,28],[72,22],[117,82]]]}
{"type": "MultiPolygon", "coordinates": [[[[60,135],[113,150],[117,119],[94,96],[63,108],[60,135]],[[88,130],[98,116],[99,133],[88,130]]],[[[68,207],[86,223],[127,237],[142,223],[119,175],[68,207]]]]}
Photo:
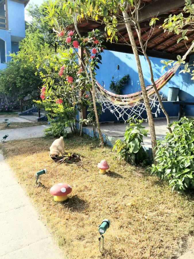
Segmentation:
{"type": "Polygon", "coordinates": [[[147,136],[148,130],[141,125],[143,120],[132,117],[128,122],[124,133],[124,141],[118,139],[113,146],[113,150],[117,151],[118,159],[125,159],[135,165],[146,165],[149,163],[148,154],[141,143],[143,143],[143,136],[147,136]]]}

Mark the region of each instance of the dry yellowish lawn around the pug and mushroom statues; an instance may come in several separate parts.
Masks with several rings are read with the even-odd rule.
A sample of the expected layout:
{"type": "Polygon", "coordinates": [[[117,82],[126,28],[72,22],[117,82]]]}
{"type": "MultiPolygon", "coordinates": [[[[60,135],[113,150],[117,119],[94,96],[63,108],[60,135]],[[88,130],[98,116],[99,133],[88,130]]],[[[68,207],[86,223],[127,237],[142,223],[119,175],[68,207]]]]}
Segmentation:
{"type": "Polygon", "coordinates": [[[166,182],[149,176],[141,167],[114,160],[111,148],[99,148],[89,137],[65,140],[66,151],[81,155],[82,165],[58,165],[49,158],[52,141],[14,140],[0,147],[65,258],[170,259],[185,250],[194,233],[192,195],[171,193],[166,182]],[[98,174],[101,159],[110,165],[106,175],[98,174]],[[35,172],[43,168],[48,174],[41,177],[43,186],[37,187],[35,172]],[[58,182],[73,188],[63,203],[55,202],[49,193],[58,182]],[[104,218],[111,226],[105,233],[105,251],[100,254],[97,226],[104,218]]]}

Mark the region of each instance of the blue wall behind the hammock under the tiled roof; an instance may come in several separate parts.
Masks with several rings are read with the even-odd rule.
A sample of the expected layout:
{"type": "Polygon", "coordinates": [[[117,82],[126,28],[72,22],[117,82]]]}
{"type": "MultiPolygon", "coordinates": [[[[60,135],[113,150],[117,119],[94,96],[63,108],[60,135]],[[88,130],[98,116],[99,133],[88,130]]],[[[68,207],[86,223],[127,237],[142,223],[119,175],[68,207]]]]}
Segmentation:
{"type": "MultiPolygon", "coordinates": [[[[160,58],[150,57],[150,60],[153,68],[154,79],[156,80],[161,77],[167,69],[161,72],[163,64],[160,62],[160,58]]],[[[150,72],[147,61],[144,56],[140,56],[140,61],[143,68],[145,84],[150,85],[150,72]]],[[[167,98],[168,87],[178,87],[180,88],[179,100],[194,102],[194,81],[191,80],[191,75],[188,73],[179,74],[179,71],[180,70],[178,69],[176,75],[170,79],[165,87],[162,88],[161,93],[163,93],[164,97],[167,98]]],[[[133,54],[105,50],[104,53],[102,53],[102,64],[99,64],[99,70],[97,70],[96,73],[97,81],[102,86],[104,85],[107,90],[109,90],[112,76],[114,76],[114,80],[118,81],[126,74],[129,74],[130,80],[128,85],[124,87],[122,94],[130,94],[141,90],[137,66],[133,54]],[[117,65],[119,65],[119,69],[116,69],[117,65]]],[[[178,105],[173,104],[171,104],[171,106],[168,105],[168,107],[166,106],[167,112],[170,112],[171,116],[178,116],[177,108],[178,105]],[[173,114],[172,110],[174,110],[173,114]]],[[[194,107],[186,106],[184,112],[186,115],[194,116],[194,107]]],[[[104,115],[102,115],[102,118],[103,116],[104,115]]],[[[162,115],[160,117],[162,117],[162,115]]]]}

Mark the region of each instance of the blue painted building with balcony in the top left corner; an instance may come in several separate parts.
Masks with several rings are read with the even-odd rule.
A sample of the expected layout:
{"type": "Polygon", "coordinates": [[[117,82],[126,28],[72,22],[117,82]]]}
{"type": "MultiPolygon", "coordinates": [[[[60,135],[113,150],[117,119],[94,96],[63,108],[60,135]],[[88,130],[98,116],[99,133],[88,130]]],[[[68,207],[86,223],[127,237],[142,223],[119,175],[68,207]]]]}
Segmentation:
{"type": "Polygon", "coordinates": [[[18,52],[25,37],[24,8],[29,0],[0,0],[0,69],[6,67],[9,55],[18,52]]]}

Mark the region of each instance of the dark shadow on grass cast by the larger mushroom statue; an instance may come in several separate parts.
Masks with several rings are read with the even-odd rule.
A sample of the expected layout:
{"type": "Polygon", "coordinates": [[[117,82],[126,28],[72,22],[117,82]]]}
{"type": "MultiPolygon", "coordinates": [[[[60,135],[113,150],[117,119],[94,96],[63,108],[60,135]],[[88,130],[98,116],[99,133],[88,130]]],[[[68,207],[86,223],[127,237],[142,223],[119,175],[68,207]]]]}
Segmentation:
{"type": "Polygon", "coordinates": [[[88,204],[83,199],[79,198],[78,195],[74,195],[63,203],[64,209],[70,208],[71,211],[83,211],[88,207],[88,204]]]}

